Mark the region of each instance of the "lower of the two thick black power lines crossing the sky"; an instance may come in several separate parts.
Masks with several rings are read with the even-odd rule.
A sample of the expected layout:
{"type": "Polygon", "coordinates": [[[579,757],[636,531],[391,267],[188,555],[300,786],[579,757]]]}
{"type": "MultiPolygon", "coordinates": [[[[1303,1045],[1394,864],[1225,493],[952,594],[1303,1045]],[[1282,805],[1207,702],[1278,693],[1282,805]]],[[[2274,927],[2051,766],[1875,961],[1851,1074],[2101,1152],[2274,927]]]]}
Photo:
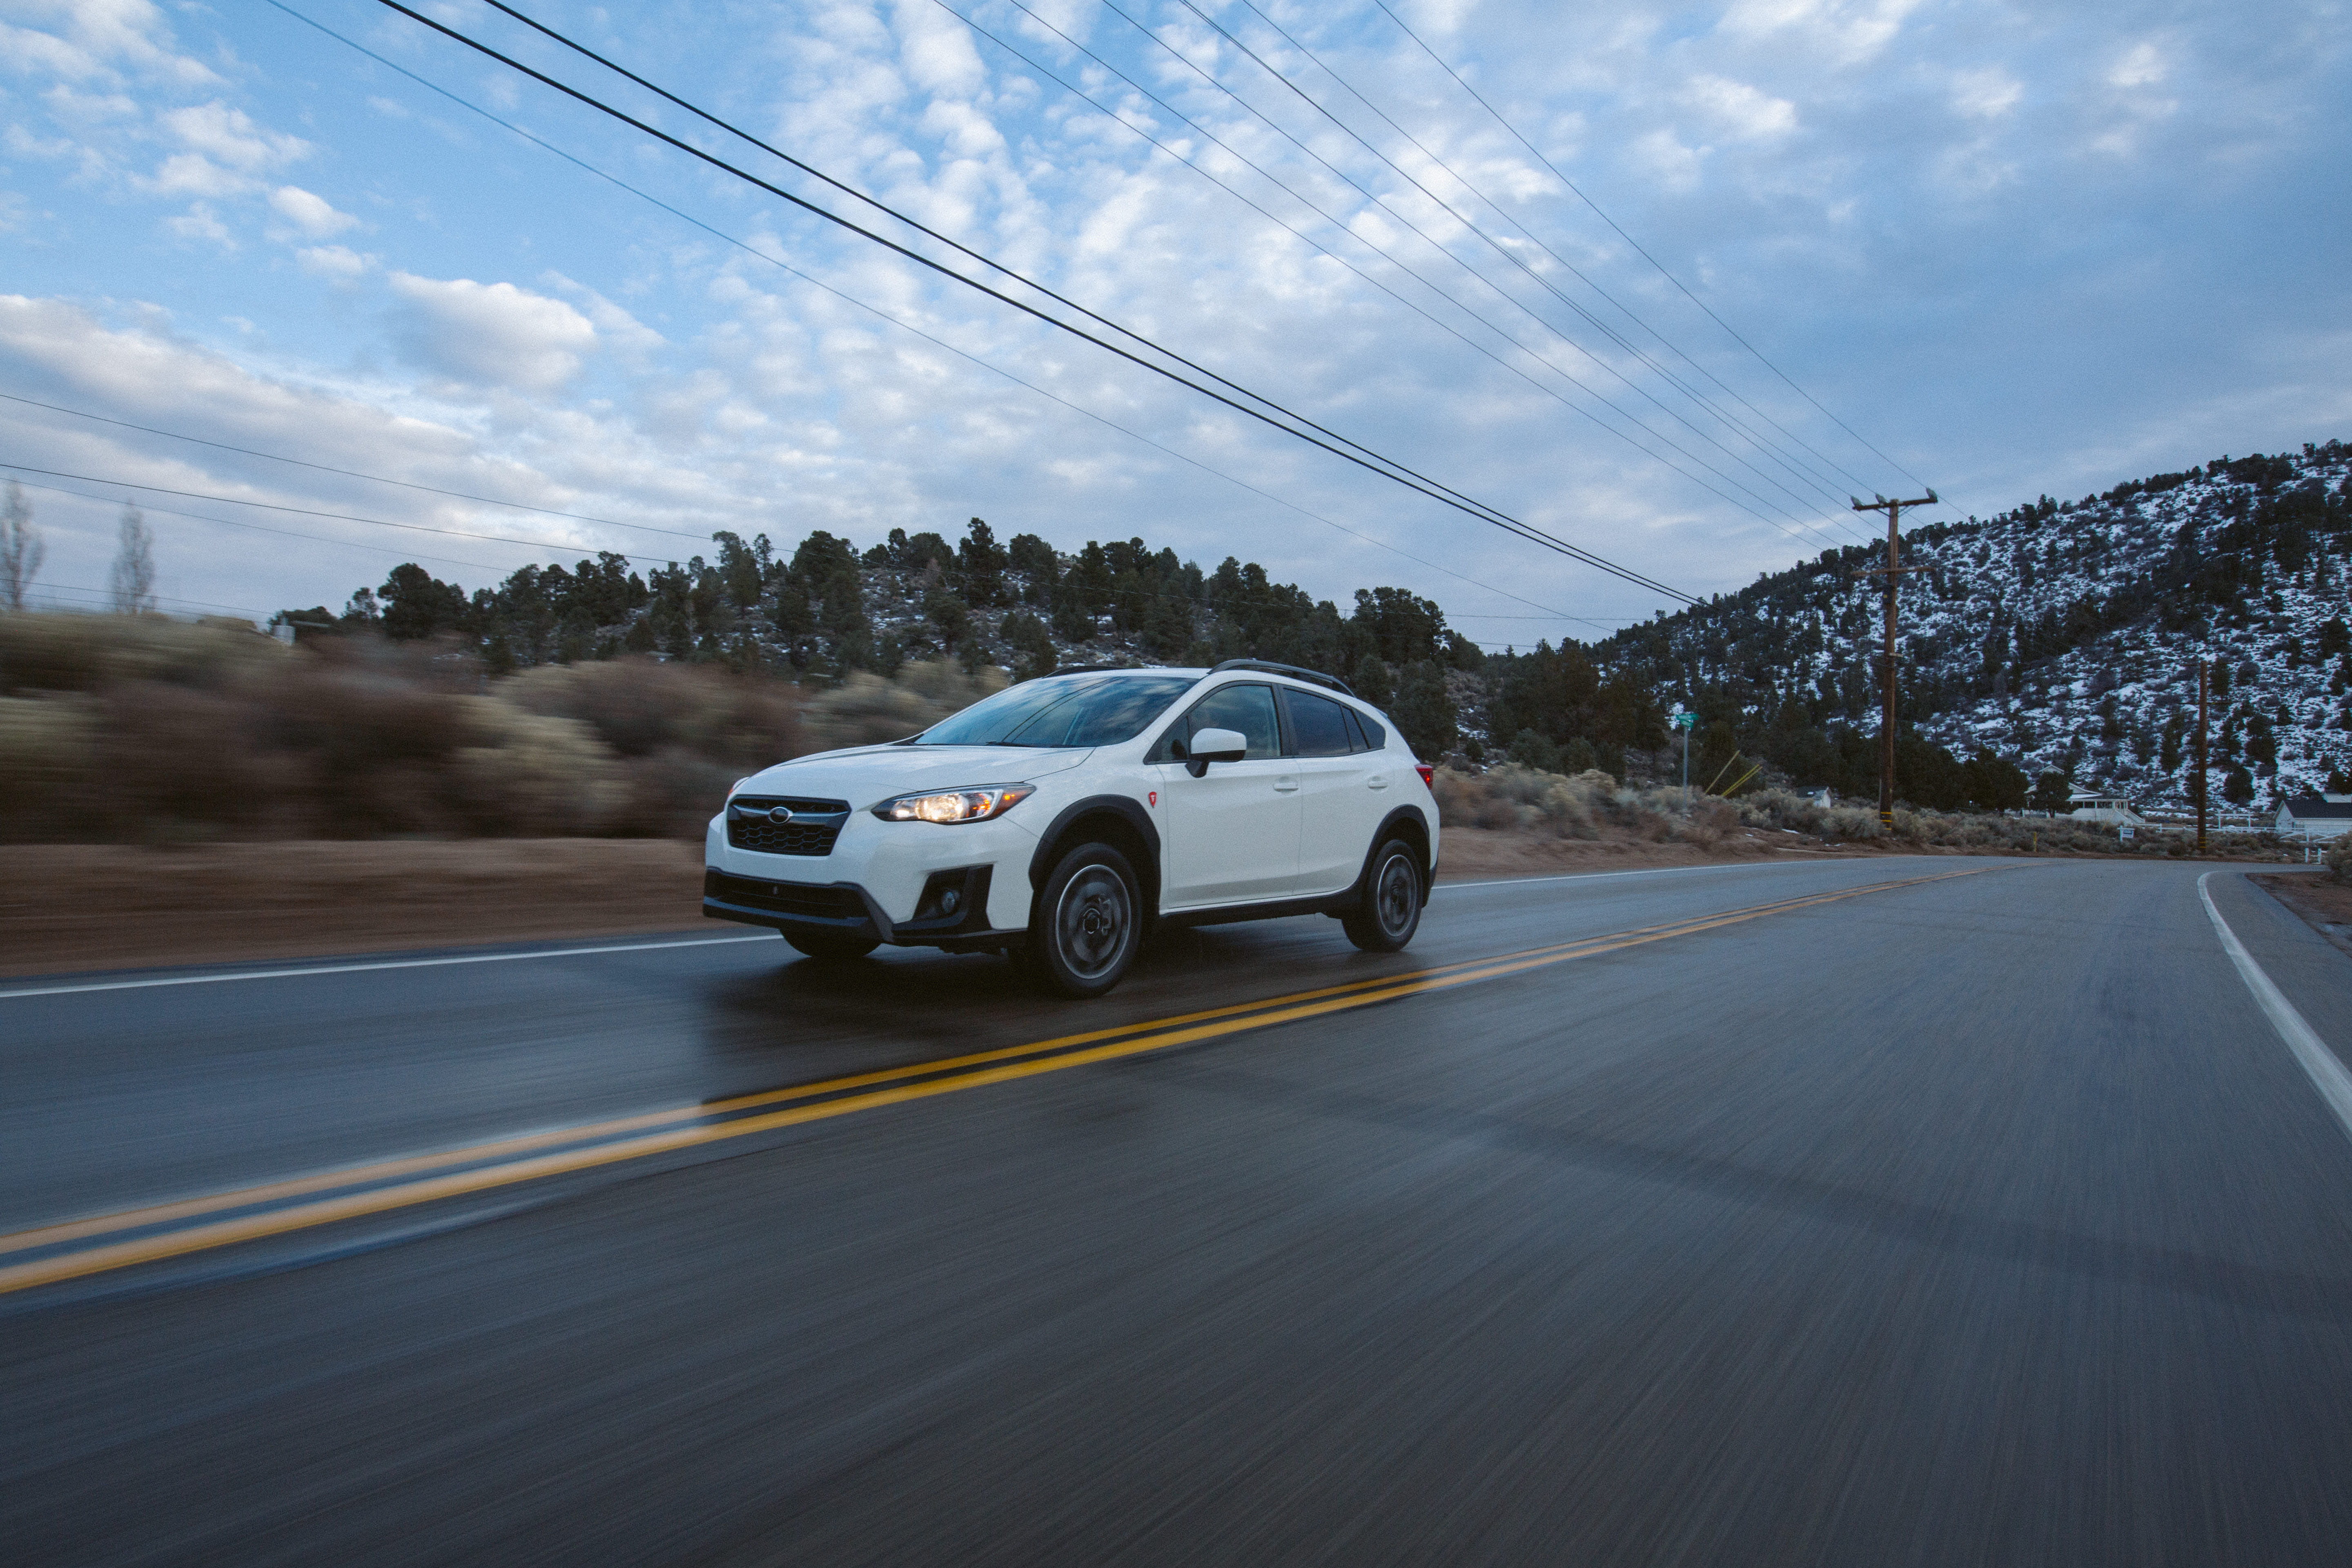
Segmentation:
{"type": "MultiPolygon", "coordinates": [[[[1635,583],[1637,588],[1649,588],[1651,592],[1665,595],[1670,599],[1682,599],[1686,604],[1696,602],[1693,595],[1686,595],[1679,588],[1668,588],[1665,583],[1658,583],[1656,578],[1649,578],[1649,576],[1644,576],[1639,571],[1632,571],[1630,567],[1621,567],[1621,564],[1616,564],[1616,562],[1611,562],[1611,559],[1606,559],[1602,555],[1595,555],[1595,552],[1583,550],[1578,545],[1571,545],[1571,543],[1566,543],[1562,538],[1555,538],[1552,534],[1545,534],[1545,531],[1536,529],[1534,524],[1519,522],[1510,512],[1503,512],[1503,510],[1498,510],[1494,505],[1486,505],[1484,501],[1472,501],[1470,496],[1465,496],[1465,494],[1461,494],[1461,491],[1442,484],[1439,480],[1430,480],[1428,475],[1421,475],[1418,470],[1406,468],[1404,463],[1397,463],[1395,458],[1381,456],[1378,451],[1371,451],[1369,447],[1362,447],[1359,442],[1352,442],[1352,440],[1338,437],[1338,435],[1334,435],[1331,440],[1319,440],[1317,435],[1310,435],[1308,430],[1301,430],[1298,425],[1308,425],[1310,430],[1322,430],[1322,425],[1315,425],[1305,416],[1298,416],[1298,414],[1291,414],[1289,409],[1282,409],[1282,404],[1272,402],[1270,397],[1265,397],[1261,393],[1247,393],[1247,390],[1242,390],[1242,397],[1249,397],[1254,402],[1263,402],[1268,409],[1277,409],[1284,418],[1296,418],[1298,425],[1284,423],[1284,418],[1277,418],[1275,414],[1265,414],[1261,409],[1249,407],[1247,402],[1228,397],[1228,395],[1223,395],[1223,393],[1218,393],[1214,388],[1207,388],[1207,386],[1197,383],[1197,381],[1190,381],[1190,378],[1181,376],[1178,371],[1174,371],[1174,369],[1169,369],[1164,364],[1155,364],[1155,362],[1150,362],[1150,360],[1145,360],[1145,357],[1141,357],[1141,355],[1136,355],[1136,353],[1131,353],[1127,348],[1120,348],[1117,343],[1108,343],[1105,339],[1098,339],[1091,331],[1087,331],[1082,327],[1075,327],[1075,324],[1070,324],[1070,322],[1051,315],[1049,310],[1042,310],[1037,306],[1018,301],[1011,294],[1004,294],[1002,289],[993,289],[993,287],[988,287],[985,282],[981,282],[976,277],[957,273],[955,268],[924,256],[922,252],[908,249],[906,244],[898,244],[896,240],[889,240],[887,235],[880,235],[880,233],[875,233],[870,228],[863,228],[861,223],[851,223],[849,219],[840,216],[837,212],[818,207],[816,202],[811,202],[807,197],[800,197],[800,195],[793,195],[790,190],[783,190],[781,186],[774,186],[774,183],[760,179],[757,174],[739,169],[736,165],[717,158],[715,153],[706,153],[703,148],[696,148],[689,141],[670,136],[668,132],[663,132],[663,129],[659,129],[654,125],[647,125],[644,120],[637,120],[635,115],[628,115],[626,110],[614,108],[612,103],[604,103],[602,99],[595,99],[593,94],[581,92],[579,87],[560,82],[560,80],[546,75],[543,71],[534,71],[532,66],[524,66],[522,61],[517,61],[517,59],[513,59],[508,54],[501,54],[499,49],[492,49],[489,45],[485,45],[485,42],[480,42],[475,38],[468,38],[466,33],[459,33],[456,28],[449,28],[449,26],[445,26],[440,21],[433,21],[430,16],[423,16],[421,12],[409,9],[407,5],[400,5],[400,0],[379,0],[379,5],[383,5],[386,9],[400,12],[402,16],[416,21],[419,26],[426,26],[426,28],[430,28],[435,33],[442,33],[445,38],[449,38],[454,42],[461,42],[468,49],[475,49],[477,54],[485,54],[487,59],[494,59],[494,61],[508,66],[510,71],[529,75],[532,80],[536,80],[536,82],[541,82],[546,87],[553,87],[553,89],[562,92],[564,96],[576,99],[579,103],[586,103],[588,108],[595,108],[602,115],[609,115],[609,118],[614,118],[614,120],[619,120],[619,122],[623,122],[623,125],[628,125],[628,127],[633,127],[633,129],[637,129],[637,132],[642,132],[647,136],[654,136],[656,141],[661,141],[666,146],[673,146],[680,153],[687,153],[689,158],[696,158],[701,162],[708,162],[715,169],[734,174],[736,179],[741,179],[741,181],[746,181],[746,183],[750,183],[750,186],[755,186],[760,190],[767,190],[769,195],[774,195],[779,200],[786,200],[786,202],[790,202],[790,205],[809,212],[811,216],[818,216],[818,219],[823,219],[828,223],[835,223],[835,226],[840,226],[840,228],[844,228],[844,230],[849,230],[854,235],[861,235],[861,237],[866,237],[866,240],[870,240],[875,244],[882,244],[884,249],[889,249],[889,252],[894,252],[898,256],[906,256],[908,261],[915,261],[917,266],[929,268],[929,270],[938,273],[941,277],[950,277],[950,280],[964,284],[967,289],[985,294],[985,296],[1000,301],[1000,303],[1007,303],[1007,306],[1021,310],[1023,315],[1030,315],[1030,317],[1035,317],[1035,320],[1040,320],[1040,322],[1044,322],[1049,327],[1056,327],[1058,331],[1065,331],[1065,334],[1070,334],[1075,339],[1094,343],[1096,348],[1103,348],[1105,353],[1112,353],[1112,355],[1117,355],[1117,357],[1122,357],[1122,360],[1127,360],[1127,362],[1131,362],[1131,364],[1136,364],[1141,369],[1148,369],[1155,376],[1162,376],[1167,381],[1174,381],[1176,386],[1185,386],[1185,388],[1190,388],[1190,390],[1195,390],[1195,393],[1200,393],[1204,397],[1211,397],[1211,400],[1216,400],[1216,402],[1235,409],[1237,414],[1247,414],[1249,418],[1256,418],[1258,423],[1263,423],[1263,425],[1268,425],[1272,430],[1282,430],[1284,435],[1291,435],[1294,440],[1308,442],[1310,447],[1319,447],[1319,449],[1324,449],[1324,451],[1329,451],[1329,454],[1334,454],[1334,456],[1338,456],[1338,458],[1343,458],[1348,463],[1355,463],[1357,468],[1362,468],[1367,473],[1381,475],[1383,480],[1390,480],[1392,484],[1399,484],[1404,489],[1423,494],[1423,496],[1428,496],[1428,498],[1432,498],[1432,501],[1437,501],[1442,505],[1449,505],[1449,508],[1454,508],[1454,510],[1458,510],[1458,512],[1463,512],[1468,517],[1477,517],[1479,522],[1486,522],[1486,524],[1498,527],[1498,529],[1503,529],[1508,534],[1526,538],[1529,543],[1538,543],[1538,545],[1543,545],[1548,550],[1557,550],[1559,555],[1578,559],[1578,562],[1583,562],[1588,567],[1595,567],[1595,569],[1606,571],[1611,576],[1625,578],[1628,583],[1635,583]],[[1334,444],[1334,442],[1341,442],[1341,444],[1334,444]],[[1357,454],[1364,454],[1364,456],[1357,456],[1357,454]]],[[[908,219],[908,223],[915,226],[910,219],[908,219]]],[[[1122,331],[1124,331],[1124,336],[1129,336],[1129,339],[1134,339],[1138,343],[1148,343],[1148,339],[1143,339],[1141,334],[1134,334],[1131,329],[1122,329],[1122,331]]],[[[1160,350],[1157,346],[1152,346],[1152,350],[1167,355],[1169,360],[1176,360],[1174,353],[1160,350]]],[[[1331,435],[1331,433],[1324,433],[1324,435],[1331,435]]]]}

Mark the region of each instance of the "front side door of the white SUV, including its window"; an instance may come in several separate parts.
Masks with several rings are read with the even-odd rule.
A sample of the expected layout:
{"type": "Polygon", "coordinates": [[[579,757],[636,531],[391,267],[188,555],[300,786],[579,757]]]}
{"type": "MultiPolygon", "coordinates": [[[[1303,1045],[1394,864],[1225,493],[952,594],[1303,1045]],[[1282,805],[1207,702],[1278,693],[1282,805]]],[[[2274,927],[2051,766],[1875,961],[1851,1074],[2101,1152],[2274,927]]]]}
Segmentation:
{"type": "Polygon", "coordinates": [[[1249,755],[1211,762],[1200,778],[1181,762],[1157,769],[1160,905],[1287,898],[1298,886],[1301,790],[1298,764],[1282,755],[1272,686],[1221,686],[1176,719],[1169,736],[1188,741],[1195,729],[1237,729],[1249,738],[1249,755]]]}

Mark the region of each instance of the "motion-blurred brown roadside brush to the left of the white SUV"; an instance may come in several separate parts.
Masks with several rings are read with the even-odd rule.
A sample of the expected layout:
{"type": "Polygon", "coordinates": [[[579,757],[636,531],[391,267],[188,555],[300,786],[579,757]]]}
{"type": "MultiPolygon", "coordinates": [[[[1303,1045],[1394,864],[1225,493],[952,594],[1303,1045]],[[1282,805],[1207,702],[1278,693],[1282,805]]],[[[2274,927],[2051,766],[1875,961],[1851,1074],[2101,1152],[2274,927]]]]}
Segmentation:
{"type": "Polygon", "coordinates": [[[816,691],[722,663],[492,675],[454,637],[0,616],[0,839],[701,837],[727,785],[1004,684],[908,663],[816,691]]]}

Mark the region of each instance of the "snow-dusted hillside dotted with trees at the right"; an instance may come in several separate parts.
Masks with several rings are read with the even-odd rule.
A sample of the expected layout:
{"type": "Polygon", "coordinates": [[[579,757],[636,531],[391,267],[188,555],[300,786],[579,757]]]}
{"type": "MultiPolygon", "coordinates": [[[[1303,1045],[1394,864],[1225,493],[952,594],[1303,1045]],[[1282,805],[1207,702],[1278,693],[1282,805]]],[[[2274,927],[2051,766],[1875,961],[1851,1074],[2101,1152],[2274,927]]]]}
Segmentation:
{"type": "MultiPolygon", "coordinates": [[[[1884,548],[1835,550],[1597,649],[1762,724],[1877,726],[1884,548]]],[[[1903,717],[1955,752],[2183,804],[2197,661],[2218,670],[2213,790],[2270,802],[2352,773],[2352,451],[2218,458],[2072,503],[1905,531],[1903,717]],[[2244,769],[2244,773],[2237,773],[2244,769]],[[2232,778],[2232,773],[2237,773],[2232,778]]]]}

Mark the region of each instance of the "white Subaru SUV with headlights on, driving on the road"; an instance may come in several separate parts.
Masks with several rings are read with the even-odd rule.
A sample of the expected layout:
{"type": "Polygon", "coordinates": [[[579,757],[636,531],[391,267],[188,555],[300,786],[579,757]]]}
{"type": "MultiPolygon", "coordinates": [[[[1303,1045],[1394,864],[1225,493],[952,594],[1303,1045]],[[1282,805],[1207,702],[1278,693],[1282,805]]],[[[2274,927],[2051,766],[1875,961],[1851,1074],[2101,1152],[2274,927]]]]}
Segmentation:
{"type": "Polygon", "coordinates": [[[1329,675],[1068,670],[739,780],[703,860],[703,914],[809,957],[997,950],[1096,997],[1152,922],[1331,914],[1357,947],[1404,947],[1437,802],[1395,726],[1329,675]]]}

